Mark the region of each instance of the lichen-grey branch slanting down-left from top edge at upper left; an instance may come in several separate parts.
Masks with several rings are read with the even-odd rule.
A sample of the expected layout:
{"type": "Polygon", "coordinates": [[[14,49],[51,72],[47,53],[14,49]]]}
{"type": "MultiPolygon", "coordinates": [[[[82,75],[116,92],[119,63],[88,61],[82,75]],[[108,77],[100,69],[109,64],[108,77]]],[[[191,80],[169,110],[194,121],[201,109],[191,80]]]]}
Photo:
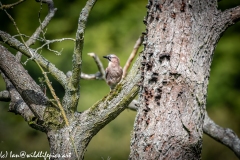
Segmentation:
{"type": "MultiPolygon", "coordinates": [[[[40,2],[40,1],[37,1],[37,2],[40,2]]],[[[54,8],[54,3],[53,3],[52,0],[45,0],[45,1],[42,1],[42,2],[48,4],[48,14],[45,17],[45,19],[43,20],[43,22],[40,23],[40,26],[36,29],[36,31],[32,34],[32,36],[26,41],[26,45],[27,46],[30,46],[30,45],[32,45],[32,44],[34,44],[36,42],[36,39],[39,37],[39,35],[42,32],[42,30],[44,28],[46,28],[46,26],[48,25],[50,20],[54,17],[55,12],[57,10],[57,8],[54,8]]],[[[21,56],[22,56],[21,52],[18,52],[16,54],[16,57],[17,57],[18,61],[21,60],[21,56]]]]}

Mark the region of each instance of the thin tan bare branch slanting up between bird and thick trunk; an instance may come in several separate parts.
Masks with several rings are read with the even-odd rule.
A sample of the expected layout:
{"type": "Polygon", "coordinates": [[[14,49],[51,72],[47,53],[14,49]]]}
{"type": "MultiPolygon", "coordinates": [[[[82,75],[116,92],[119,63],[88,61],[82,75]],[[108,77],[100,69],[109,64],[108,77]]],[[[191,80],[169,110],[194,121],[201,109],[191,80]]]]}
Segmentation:
{"type": "Polygon", "coordinates": [[[125,78],[126,75],[127,75],[127,70],[128,68],[130,67],[134,57],[136,56],[137,54],[137,51],[139,49],[139,47],[142,45],[142,42],[143,42],[143,35],[141,35],[138,40],[136,41],[134,47],[133,47],[133,50],[132,50],[132,53],[130,54],[126,64],[124,65],[123,67],[123,75],[122,75],[122,78],[125,78]]]}

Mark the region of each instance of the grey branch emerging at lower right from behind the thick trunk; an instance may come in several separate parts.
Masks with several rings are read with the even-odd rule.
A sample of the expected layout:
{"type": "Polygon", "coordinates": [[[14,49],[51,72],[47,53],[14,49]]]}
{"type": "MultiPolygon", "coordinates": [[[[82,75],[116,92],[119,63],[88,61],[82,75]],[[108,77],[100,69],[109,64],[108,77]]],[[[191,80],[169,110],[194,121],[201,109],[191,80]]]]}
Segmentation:
{"type": "Polygon", "coordinates": [[[222,128],[215,124],[210,119],[207,112],[205,113],[205,120],[203,125],[203,131],[216,141],[229,147],[238,158],[240,158],[240,139],[238,136],[229,128],[222,128]]]}

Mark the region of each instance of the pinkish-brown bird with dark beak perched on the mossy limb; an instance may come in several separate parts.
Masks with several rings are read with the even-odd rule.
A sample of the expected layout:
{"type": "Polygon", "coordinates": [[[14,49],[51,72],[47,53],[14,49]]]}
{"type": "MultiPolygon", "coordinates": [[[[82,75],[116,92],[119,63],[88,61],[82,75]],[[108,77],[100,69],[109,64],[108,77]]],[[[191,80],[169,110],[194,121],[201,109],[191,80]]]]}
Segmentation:
{"type": "Polygon", "coordinates": [[[113,90],[122,79],[123,71],[120,66],[120,60],[114,54],[103,56],[103,58],[108,59],[108,67],[105,70],[105,78],[110,90],[113,90]]]}

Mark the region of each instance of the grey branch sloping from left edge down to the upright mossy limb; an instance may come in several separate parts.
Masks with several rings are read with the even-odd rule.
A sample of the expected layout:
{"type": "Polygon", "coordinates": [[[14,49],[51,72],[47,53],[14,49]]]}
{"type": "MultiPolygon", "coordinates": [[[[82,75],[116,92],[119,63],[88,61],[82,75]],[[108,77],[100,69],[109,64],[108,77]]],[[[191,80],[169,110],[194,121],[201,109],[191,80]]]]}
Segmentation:
{"type": "MultiPolygon", "coordinates": [[[[29,49],[25,47],[24,44],[19,42],[16,38],[13,38],[8,33],[5,33],[3,31],[0,31],[0,41],[8,44],[12,48],[15,48],[16,50],[22,52],[27,57],[31,57],[31,53],[29,52],[29,49]]],[[[35,53],[34,49],[30,49],[32,53],[35,53]]],[[[55,65],[50,63],[47,59],[42,57],[39,54],[34,55],[34,60],[38,61],[39,64],[47,69],[50,74],[65,88],[66,87],[66,75],[60,71],[58,68],[56,68],[55,65]]]]}

